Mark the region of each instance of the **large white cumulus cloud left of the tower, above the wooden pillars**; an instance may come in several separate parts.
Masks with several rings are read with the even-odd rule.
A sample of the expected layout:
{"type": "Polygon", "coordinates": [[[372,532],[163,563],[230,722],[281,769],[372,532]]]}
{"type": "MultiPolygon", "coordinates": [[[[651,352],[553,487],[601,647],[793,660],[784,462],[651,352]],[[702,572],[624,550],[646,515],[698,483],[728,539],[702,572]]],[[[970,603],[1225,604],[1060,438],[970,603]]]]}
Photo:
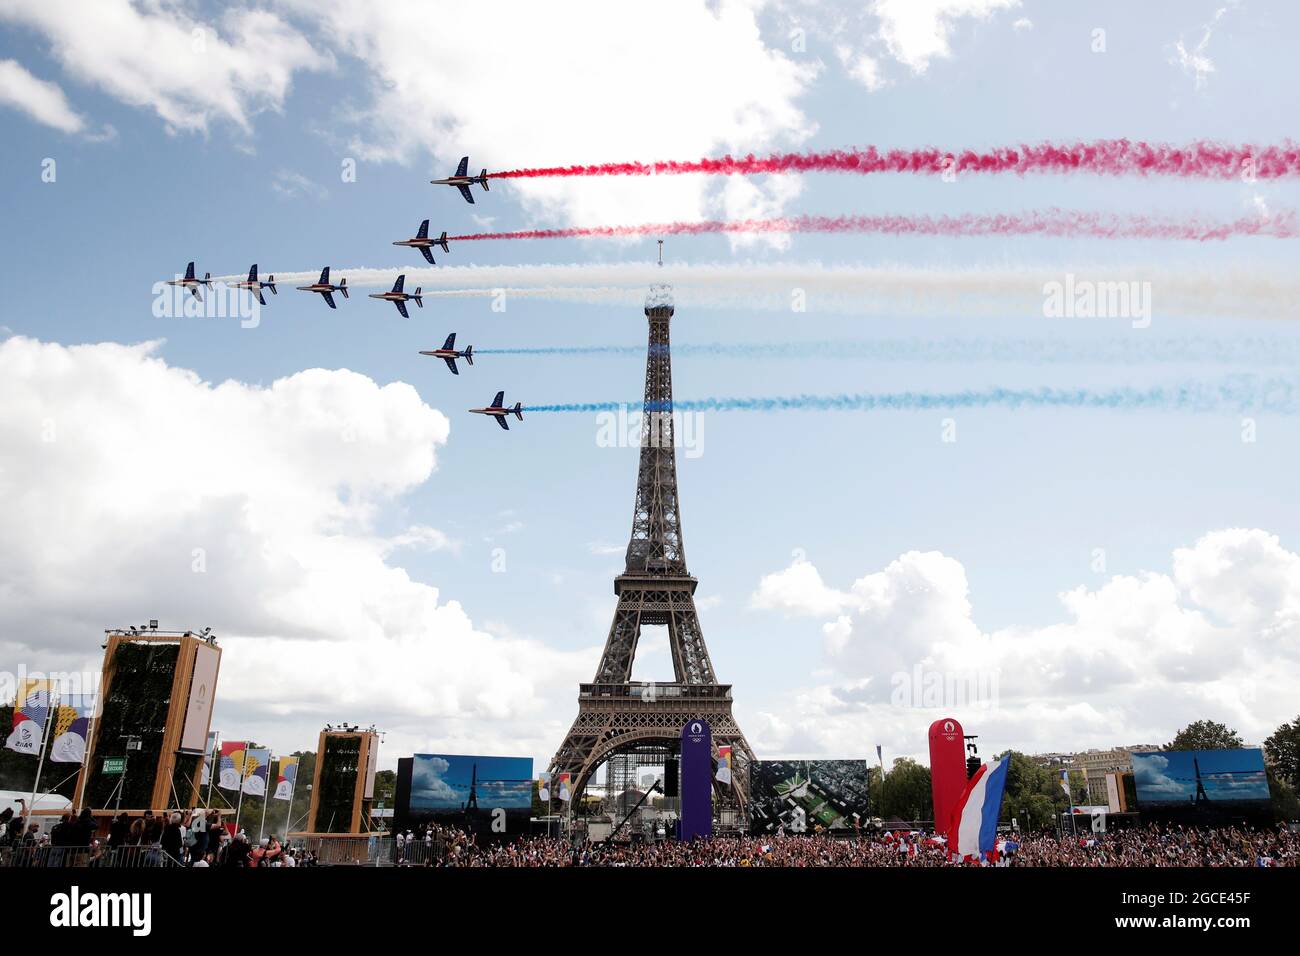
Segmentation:
{"type": "Polygon", "coordinates": [[[159,349],[0,342],[6,666],[79,667],[103,628],[148,618],[211,626],[228,737],[287,750],[346,719],[387,730],[390,753],[554,747],[592,654],[490,633],[393,563],[452,546],[399,520],[446,416],[402,382],[213,384],[159,349]]]}

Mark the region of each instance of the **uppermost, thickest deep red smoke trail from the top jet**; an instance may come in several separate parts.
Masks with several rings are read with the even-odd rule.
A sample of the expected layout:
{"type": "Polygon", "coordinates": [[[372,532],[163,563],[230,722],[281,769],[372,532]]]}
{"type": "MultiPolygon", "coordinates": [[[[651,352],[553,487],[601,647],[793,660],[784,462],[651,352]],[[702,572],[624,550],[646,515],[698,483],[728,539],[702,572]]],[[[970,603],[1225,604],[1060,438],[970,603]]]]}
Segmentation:
{"type": "Polygon", "coordinates": [[[874,146],[826,152],[785,152],[770,156],[722,156],[689,161],[601,163],[592,166],[537,166],[489,173],[489,178],[536,179],[568,176],[677,176],[711,173],[1079,173],[1097,176],[1173,176],[1195,179],[1300,176],[1300,146],[1290,139],[1275,146],[1222,144],[1208,140],[1170,146],[1127,139],[1091,143],[1039,143],[979,152],[936,148],[888,150],[874,146]]]}

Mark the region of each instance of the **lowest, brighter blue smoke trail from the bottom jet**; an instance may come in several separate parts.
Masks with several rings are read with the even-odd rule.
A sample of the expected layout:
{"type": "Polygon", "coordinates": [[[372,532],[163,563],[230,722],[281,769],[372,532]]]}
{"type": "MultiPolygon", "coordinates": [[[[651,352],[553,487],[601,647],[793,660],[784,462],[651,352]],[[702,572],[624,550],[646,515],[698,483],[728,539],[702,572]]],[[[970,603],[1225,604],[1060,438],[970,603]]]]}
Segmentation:
{"type": "MultiPolygon", "coordinates": [[[[1300,410],[1300,380],[1228,376],[1218,382],[1184,382],[1119,389],[967,389],[883,392],[838,395],[688,398],[647,411],[936,411],[957,408],[1109,408],[1118,411],[1273,412],[1300,410]]],[[[641,402],[572,402],[526,406],[532,412],[634,410],[641,402]]]]}

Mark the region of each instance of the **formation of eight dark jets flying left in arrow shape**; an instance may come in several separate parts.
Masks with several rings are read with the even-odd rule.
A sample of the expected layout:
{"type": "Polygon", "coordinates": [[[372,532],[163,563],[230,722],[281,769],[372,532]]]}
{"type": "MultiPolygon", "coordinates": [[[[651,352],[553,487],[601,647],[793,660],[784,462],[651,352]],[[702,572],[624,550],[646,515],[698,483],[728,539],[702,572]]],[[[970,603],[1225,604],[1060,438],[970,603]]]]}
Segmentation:
{"type": "MultiPolygon", "coordinates": [[[[473,203],[474,196],[473,193],[471,193],[469,187],[478,185],[482,186],[484,193],[486,193],[488,170],[484,169],[482,172],[478,173],[478,176],[471,176],[469,157],[462,156],[460,164],[456,166],[455,176],[448,176],[445,179],[430,179],[429,182],[434,186],[455,186],[456,189],[460,190],[460,195],[464,196],[467,203],[473,203]]],[[[424,220],[422,222],[420,222],[420,228],[416,230],[416,234],[412,238],[398,239],[393,245],[406,246],[407,248],[419,250],[420,255],[422,255],[425,258],[425,261],[428,261],[430,265],[437,264],[433,259],[434,247],[441,248],[443,254],[451,252],[446,230],[443,230],[437,238],[429,235],[429,220],[424,220]]],[[[185,276],[177,277],[174,280],[168,280],[168,285],[188,289],[190,293],[202,302],[203,295],[200,294],[199,289],[200,287],[205,287],[209,290],[212,289],[212,273],[205,272],[203,273],[203,278],[196,278],[194,263],[190,263],[185,269],[185,276]]],[[[415,302],[417,307],[424,308],[424,298],[422,298],[422,291],[419,286],[413,293],[407,293],[404,290],[404,285],[406,285],[406,274],[403,273],[398,276],[398,280],[396,282],[393,284],[393,289],[390,291],[370,293],[369,298],[391,302],[394,306],[396,306],[396,310],[403,319],[410,319],[411,313],[407,312],[407,303],[415,302]]],[[[273,274],[268,274],[266,280],[261,281],[257,277],[256,263],[254,263],[252,267],[248,269],[247,280],[242,282],[231,282],[230,287],[248,290],[255,297],[257,297],[257,302],[263,306],[266,304],[266,299],[263,295],[264,289],[269,289],[272,295],[278,295],[278,290],[276,289],[276,277],[273,274]]],[[[296,289],[303,293],[316,293],[322,299],[325,299],[325,304],[329,306],[330,308],[338,308],[338,303],[334,300],[334,293],[339,293],[344,299],[348,298],[347,280],[339,278],[338,285],[330,282],[328,265],[324,269],[321,269],[321,276],[316,282],[312,282],[311,285],[300,285],[296,286],[296,289]]],[[[469,365],[474,364],[473,346],[471,345],[465,346],[463,350],[458,350],[455,332],[447,336],[447,341],[442,343],[441,349],[421,350],[420,354],[429,355],[436,359],[442,359],[443,362],[447,363],[447,368],[451,369],[452,375],[460,375],[460,369],[456,365],[458,359],[464,359],[465,363],[469,365]]],[[[488,415],[490,418],[497,419],[497,424],[499,424],[503,429],[508,432],[510,424],[506,421],[506,419],[510,415],[514,415],[519,421],[523,421],[524,406],[521,402],[515,402],[514,406],[506,406],[504,402],[506,402],[506,393],[498,392],[497,397],[491,401],[491,405],[486,406],[485,408],[471,408],[469,411],[473,412],[474,415],[488,415]]]]}

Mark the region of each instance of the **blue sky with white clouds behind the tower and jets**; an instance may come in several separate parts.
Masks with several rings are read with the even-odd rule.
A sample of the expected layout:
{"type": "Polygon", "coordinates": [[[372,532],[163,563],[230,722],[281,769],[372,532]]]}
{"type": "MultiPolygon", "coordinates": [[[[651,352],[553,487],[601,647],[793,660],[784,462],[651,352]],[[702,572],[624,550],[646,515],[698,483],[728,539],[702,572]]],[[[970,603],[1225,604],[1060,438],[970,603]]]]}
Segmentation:
{"type": "MultiPolygon", "coordinates": [[[[18,502],[0,519],[13,545],[0,558],[14,581],[0,611],[10,670],[94,666],[98,632],[136,619],[212,626],[226,648],[214,722],[225,736],[287,750],[326,721],[374,721],[389,731],[385,765],[436,749],[529,753],[540,766],[576,711],[575,684],[594,671],[636,449],[601,447],[590,415],[533,415],[504,434],[464,410],[498,389],[525,406],[636,401],[644,358],[485,354],[451,377],[417,350],[448,332],[476,350],[636,346],[644,284],[620,302],[510,297],[504,312],[486,298],[430,297],[406,321],[359,295],[374,289],[330,311],[282,281],[257,328],[155,317],[153,284],[190,259],[218,276],[252,261],[264,276],[415,268],[419,255],[390,242],[425,217],[455,234],[1046,207],[1235,219],[1296,204],[1294,181],[1091,176],[498,182],[474,207],[428,185],[464,152],[474,168],[504,168],[849,144],[1275,143],[1300,114],[1288,47],[1300,13],[1282,3],[755,0],[597,7],[567,25],[476,8],[473,29],[465,13],[439,13],[124,1],[103,4],[88,35],[72,7],[0,3],[0,334],[10,337],[0,395],[12,399],[0,488],[18,502]],[[182,48],[194,30],[204,52],[182,48]],[[47,159],[53,182],[42,179],[47,159]],[[341,178],[350,159],[355,182],[341,178]],[[144,342],[157,345],[108,345],[144,342]],[[40,438],[49,423],[55,442],[40,438]]],[[[1297,347],[1295,255],[1279,239],[671,238],[672,267],[755,274],[823,264],[935,281],[1165,277],[1148,329],[1045,319],[1032,294],[941,315],[904,298],[883,310],[828,303],[815,287],[805,312],[692,307],[682,295],[677,343],[1045,339],[1066,360],[693,354],[675,359],[676,394],[1284,375],[1270,352],[1297,347]],[[1234,276],[1245,278],[1227,287],[1234,276]],[[1258,277],[1280,291],[1232,298],[1258,277]],[[1195,282],[1225,284],[1227,304],[1199,308],[1195,282]],[[1232,362],[1144,358],[1164,339],[1213,350],[1245,338],[1264,343],[1232,362]],[[1069,358],[1097,342],[1134,358],[1069,358]]],[[[448,286],[476,285],[463,265],[653,258],[653,241],[438,254],[448,286]]],[[[988,408],[701,421],[702,454],[679,457],[688,563],[715,669],[760,756],[858,757],[878,743],[919,753],[924,727],[949,711],[994,748],[1030,750],[1160,743],[1202,717],[1257,740],[1295,715],[1291,416],[988,408]],[[945,419],[956,441],[942,440],[945,419]],[[993,675],[996,693],[901,704],[918,666],[993,675]],[[1275,685],[1256,684],[1264,666],[1275,685]]],[[[642,650],[637,675],[668,679],[662,641],[647,633],[642,650]]]]}

